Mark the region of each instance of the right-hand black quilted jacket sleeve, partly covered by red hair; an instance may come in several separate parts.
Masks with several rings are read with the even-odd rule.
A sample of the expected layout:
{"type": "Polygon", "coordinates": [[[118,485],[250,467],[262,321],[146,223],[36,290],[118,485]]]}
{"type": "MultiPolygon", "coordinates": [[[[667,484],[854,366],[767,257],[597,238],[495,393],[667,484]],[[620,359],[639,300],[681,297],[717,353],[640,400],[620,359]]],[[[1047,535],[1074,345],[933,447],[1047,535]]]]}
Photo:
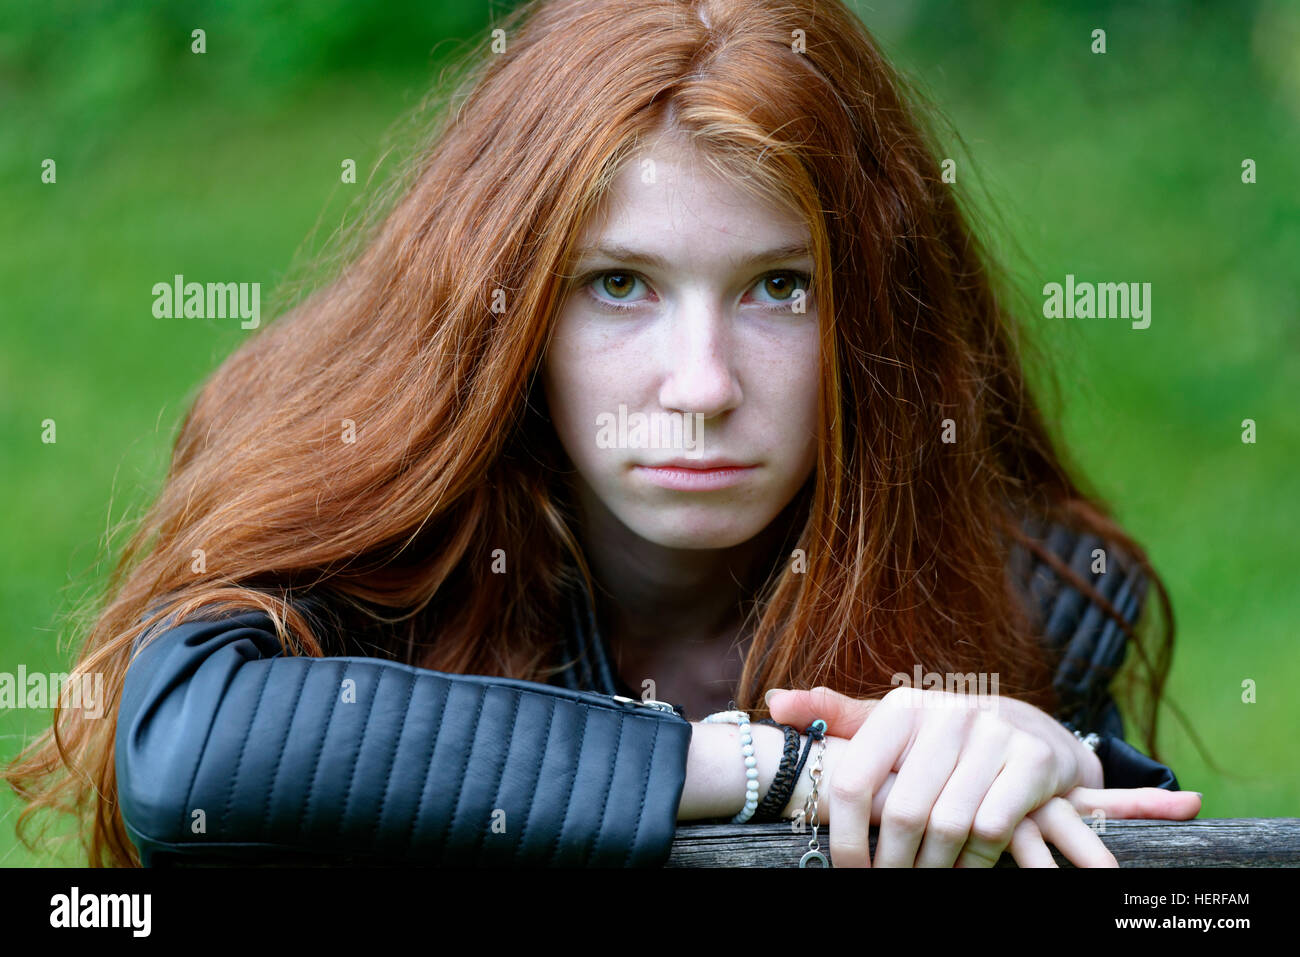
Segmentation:
{"type": "MultiPolygon", "coordinates": [[[[1136,563],[1106,547],[1096,536],[1079,534],[1058,524],[1031,529],[1031,534],[1089,581],[1130,625],[1138,622],[1147,579],[1136,563]]],[[[1097,758],[1105,785],[1179,791],[1178,779],[1169,767],[1124,741],[1123,719],[1110,693],[1110,683],[1127,651],[1119,623],[1079,589],[1062,581],[1046,563],[1035,559],[1022,566],[1020,572],[1027,576],[1031,605],[1043,615],[1044,638],[1061,653],[1053,681],[1061,701],[1057,718],[1070,728],[1098,735],[1097,758]]]]}

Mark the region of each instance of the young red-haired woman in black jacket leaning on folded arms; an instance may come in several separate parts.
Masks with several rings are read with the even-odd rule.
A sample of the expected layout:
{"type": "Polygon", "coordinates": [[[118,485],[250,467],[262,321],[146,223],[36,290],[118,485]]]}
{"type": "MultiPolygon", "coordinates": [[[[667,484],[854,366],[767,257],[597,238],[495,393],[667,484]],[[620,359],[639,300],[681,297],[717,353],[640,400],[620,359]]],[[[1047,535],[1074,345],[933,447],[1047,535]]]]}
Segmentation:
{"type": "Polygon", "coordinates": [[[29,814],[84,813],[94,863],[662,863],[746,800],[699,719],[770,689],[827,722],[837,866],[871,823],[876,865],[1113,866],[1080,813],[1197,813],[1108,692],[1160,579],[853,14],[550,0],[463,92],[205,384],[78,662],[110,716],[20,755],[29,814]]]}

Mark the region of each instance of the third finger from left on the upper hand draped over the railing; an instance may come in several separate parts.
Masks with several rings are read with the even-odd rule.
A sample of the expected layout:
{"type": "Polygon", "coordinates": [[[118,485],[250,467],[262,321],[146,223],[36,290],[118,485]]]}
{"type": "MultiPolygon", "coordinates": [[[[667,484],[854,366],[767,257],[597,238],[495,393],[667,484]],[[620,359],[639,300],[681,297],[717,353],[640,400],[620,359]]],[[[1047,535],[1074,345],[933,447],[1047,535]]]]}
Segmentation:
{"type": "MultiPolygon", "coordinates": [[[[961,857],[975,814],[1002,770],[1009,737],[1006,724],[975,719],[957,767],[930,811],[916,867],[952,867],[961,857]]],[[[1015,840],[1014,833],[1011,840],[1015,840]]]]}

